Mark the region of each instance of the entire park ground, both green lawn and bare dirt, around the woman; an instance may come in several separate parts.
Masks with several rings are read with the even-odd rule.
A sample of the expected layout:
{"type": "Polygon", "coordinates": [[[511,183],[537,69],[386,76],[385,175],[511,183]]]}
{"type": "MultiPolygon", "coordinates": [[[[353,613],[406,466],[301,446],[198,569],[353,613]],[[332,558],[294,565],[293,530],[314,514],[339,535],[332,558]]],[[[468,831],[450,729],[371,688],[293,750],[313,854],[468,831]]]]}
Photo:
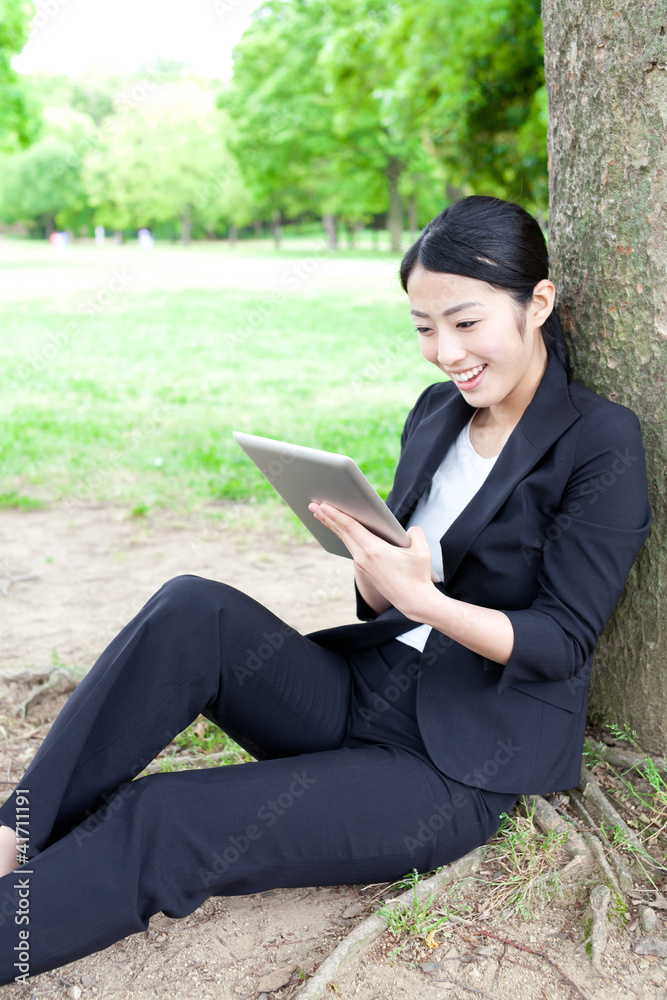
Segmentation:
{"type": "MultiPolygon", "coordinates": [[[[298,440],[361,451],[386,490],[396,457],[389,438],[433,379],[409,339],[397,259],[381,253],[332,258],[302,245],[280,255],[212,247],[142,257],[134,247],[101,256],[73,247],[56,259],[46,247],[0,243],[0,266],[8,279],[0,302],[2,799],[77,676],[166,579],[197,573],[232,583],[302,632],[353,621],[351,564],[321,550],[268,493],[245,485],[247,467],[237,464],[236,481],[222,482],[232,452],[218,439],[234,425],[261,433],[258,424],[282,399],[284,427],[298,440]],[[394,349],[401,337],[408,360],[394,349]],[[359,411],[376,414],[375,450],[373,434],[353,436],[359,411]]],[[[281,433],[273,419],[270,433],[281,433]]],[[[231,745],[216,744],[217,756],[206,760],[205,727],[192,728],[199,742],[175,741],[155,767],[193,766],[193,756],[195,766],[240,759],[231,745]]],[[[662,960],[633,950],[642,933],[634,911],[625,921],[612,914],[593,970],[584,944],[586,873],[545,878],[565,867],[566,855],[533,834],[520,810],[513,822],[536,851],[508,870],[502,844],[491,850],[439,908],[416,915],[412,934],[385,932],[328,992],[361,1000],[665,1000],[662,960]],[[535,890],[523,901],[507,894],[519,869],[517,885],[532,880],[535,890]]],[[[0,998],[231,1000],[259,996],[262,978],[281,969],[286,983],[268,995],[289,998],[383,898],[404,888],[210,899],[183,920],[159,914],[146,933],[0,988],[0,998]]],[[[667,902],[645,898],[664,936],[667,902]]]]}

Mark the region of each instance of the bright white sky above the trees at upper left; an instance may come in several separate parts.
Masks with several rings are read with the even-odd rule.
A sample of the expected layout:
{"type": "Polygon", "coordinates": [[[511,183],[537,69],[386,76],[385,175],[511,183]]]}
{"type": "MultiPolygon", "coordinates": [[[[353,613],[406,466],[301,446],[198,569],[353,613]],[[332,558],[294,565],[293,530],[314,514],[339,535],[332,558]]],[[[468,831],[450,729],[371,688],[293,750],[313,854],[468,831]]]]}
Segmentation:
{"type": "Polygon", "coordinates": [[[120,73],[159,56],[231,76],[231,50],[262,0],[35,0],[21,73],[120,73]]]}

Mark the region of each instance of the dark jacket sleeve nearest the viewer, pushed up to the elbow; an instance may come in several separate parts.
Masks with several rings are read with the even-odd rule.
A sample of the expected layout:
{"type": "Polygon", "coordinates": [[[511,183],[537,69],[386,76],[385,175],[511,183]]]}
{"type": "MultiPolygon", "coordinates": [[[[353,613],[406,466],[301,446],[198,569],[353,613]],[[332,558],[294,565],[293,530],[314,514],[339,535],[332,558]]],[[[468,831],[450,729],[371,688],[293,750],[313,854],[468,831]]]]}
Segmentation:
{"type": "Polygon", "coordinates": [[[499,691],[564,680],[593,653],[651,527],[639,420],[626,407],[583,416],[566,490],[545,531],[537,594],[505,611],[514,647],[499,691]]]}

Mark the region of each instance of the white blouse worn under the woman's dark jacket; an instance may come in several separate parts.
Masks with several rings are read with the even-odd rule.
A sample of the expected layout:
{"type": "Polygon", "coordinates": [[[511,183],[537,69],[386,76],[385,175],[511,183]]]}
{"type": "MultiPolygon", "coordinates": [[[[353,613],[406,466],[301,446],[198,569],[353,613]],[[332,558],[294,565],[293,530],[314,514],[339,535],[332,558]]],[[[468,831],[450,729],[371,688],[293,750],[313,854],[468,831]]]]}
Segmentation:
{"type": "MultiPolygon", "coordinates": [[[[406,525],[409,528],[417,524],[424,529],[431,547],[431,565],[440,580],[445,575],[440,539],[468,506],[498,458],[497,455],[483,458],[475,451],[470,440],[470,425],[474,418],[473,413],[435,471],[430,488],[417,501],[406,525]]],[[[423,650],[430,632],[430,625],[417,625],[396,638],[423,650]]]]}

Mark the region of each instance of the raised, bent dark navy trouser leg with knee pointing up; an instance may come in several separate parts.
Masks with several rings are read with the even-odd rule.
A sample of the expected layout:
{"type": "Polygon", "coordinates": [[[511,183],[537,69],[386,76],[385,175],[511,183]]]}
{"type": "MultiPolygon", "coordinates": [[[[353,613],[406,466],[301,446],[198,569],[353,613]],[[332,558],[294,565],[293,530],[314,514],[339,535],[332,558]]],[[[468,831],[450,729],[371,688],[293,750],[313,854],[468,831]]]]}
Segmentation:
{"type": "MultiPolygon", "coordinates": [[[[139,774],[198,714],[259,758],[340,746],[345,658],[246,594],[199,577],[165,584],[71,695],[18,788],[28,789],[28,857],[139,774]]],[[[14,826],[16,792],[0,808],[14,826]]]]}

